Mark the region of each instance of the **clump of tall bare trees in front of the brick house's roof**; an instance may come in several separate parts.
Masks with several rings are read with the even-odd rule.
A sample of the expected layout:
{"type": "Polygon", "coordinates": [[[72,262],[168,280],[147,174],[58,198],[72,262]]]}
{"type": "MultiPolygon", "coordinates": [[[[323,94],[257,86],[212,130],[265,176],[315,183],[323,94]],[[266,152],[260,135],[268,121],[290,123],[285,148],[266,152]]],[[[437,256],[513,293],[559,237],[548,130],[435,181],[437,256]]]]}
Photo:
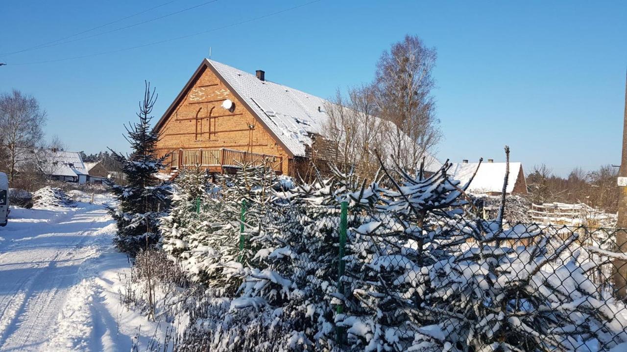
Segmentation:
{"type": "Polygon", "coordinates": [[[430,162],[428,154],[441,137],[431,95],[436,56],[418,37],[406,36],[384,51],[374,83],[352,88],[345,96],[338,91],[325,106],[327,155],[322,158],[366,178],[378,168],[376,149],[383,162],[398,160],[410,172],[424,157],[430,162]]]}

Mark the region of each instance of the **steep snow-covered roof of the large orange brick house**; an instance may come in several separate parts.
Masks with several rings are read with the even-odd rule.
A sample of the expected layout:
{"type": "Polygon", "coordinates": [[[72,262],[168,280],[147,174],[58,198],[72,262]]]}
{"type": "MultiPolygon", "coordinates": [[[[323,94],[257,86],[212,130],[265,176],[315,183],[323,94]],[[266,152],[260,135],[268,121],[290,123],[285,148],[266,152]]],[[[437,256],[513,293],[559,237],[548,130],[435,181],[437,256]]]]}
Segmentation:
{"type": "MultiPolygon", "coordinates": [[[[262,81],[252,73],[218,61],[205,59],[201,67],[203,65],[211,66],[293,155],[306,156],[312,135],[324,136],[324,124],[329,120],[325,105],[329,101],[273,81],[262,81]]],[[[168,110],[172,107],[174,103],[168,110]]],[[[168,113],[166,111],[157,127],[168,113]]],[[[436,171],[440,167],[441,163],[428,155],[425,170],[436,171]]]]}

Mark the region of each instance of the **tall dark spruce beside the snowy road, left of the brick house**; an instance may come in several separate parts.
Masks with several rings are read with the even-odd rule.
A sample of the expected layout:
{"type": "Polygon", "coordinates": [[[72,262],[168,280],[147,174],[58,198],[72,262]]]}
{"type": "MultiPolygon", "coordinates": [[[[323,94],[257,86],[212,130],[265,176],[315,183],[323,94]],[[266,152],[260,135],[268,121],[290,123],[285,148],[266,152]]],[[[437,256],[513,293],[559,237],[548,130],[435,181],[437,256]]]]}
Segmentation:
{"type": "Polygon", "coordinates": [[[109,212],[117,221],[117,236],[113,240],[120,251],[130,256],[147,249],[158,241],[158,219],[166,210],[168,182],[157,178],[164,168],[166,157],[155,157],[159,133],[150,127],[150,113],[155,103],[154,90],[145,85],[144,100],[140,102],[139,122],[130,124],[125,136],[130,143],[130,155],[113,152],[113,158],[122,165],[127,185],[117,185],[112,180],[107,185],[119,201],[109,212]]]}

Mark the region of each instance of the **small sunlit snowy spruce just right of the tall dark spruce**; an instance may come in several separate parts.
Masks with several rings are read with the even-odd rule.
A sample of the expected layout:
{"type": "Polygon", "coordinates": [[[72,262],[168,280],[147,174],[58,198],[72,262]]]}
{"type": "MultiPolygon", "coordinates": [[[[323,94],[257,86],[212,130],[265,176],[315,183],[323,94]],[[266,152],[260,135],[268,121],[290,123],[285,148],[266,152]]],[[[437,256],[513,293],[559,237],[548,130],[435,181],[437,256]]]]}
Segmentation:
{"type": "MultiPolygon", "coordinates": [[[[194,234],[203,230],[199,208],[209,202],[211,176],[200,165],[183,168],[173,185],[169,213],[161,217],[161,246],[177,259],[187,259],[194,234]],[[185,253],[185,254],[184,254],[185,253]]],[[[192,244],[192,247],[193,244],[192,244]]]]}

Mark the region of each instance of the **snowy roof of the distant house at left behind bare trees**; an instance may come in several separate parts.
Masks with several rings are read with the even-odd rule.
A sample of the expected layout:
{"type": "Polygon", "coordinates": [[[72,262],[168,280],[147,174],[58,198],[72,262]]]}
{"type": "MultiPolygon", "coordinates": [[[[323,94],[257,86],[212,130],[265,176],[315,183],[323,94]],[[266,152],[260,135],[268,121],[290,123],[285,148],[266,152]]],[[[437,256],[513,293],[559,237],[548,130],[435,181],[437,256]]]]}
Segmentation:
{"type": "MultiPolygon", "coordinates": [[[[53,176],[88,175],[87,168],[78,152],[65,150],[51,150],[40,148],[22,148],[19,152],[19,162],[34,161],[43,172],[53,176]]],[[[18,165],[19,167],[19,165],[18,165]]]]}

